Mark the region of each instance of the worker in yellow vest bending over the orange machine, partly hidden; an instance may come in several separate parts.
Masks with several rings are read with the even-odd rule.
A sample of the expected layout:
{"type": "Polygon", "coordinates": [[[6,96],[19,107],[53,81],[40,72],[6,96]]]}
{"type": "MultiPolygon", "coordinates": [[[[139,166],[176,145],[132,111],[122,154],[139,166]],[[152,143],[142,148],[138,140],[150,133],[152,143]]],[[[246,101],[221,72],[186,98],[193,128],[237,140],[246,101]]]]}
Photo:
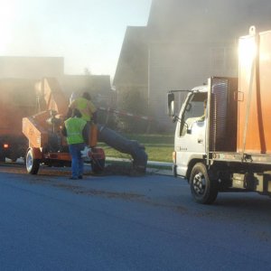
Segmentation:
{"type": "Polygon", "coordinates": [[[88,92],[84,92],[81,97],[74,99],[69,106],[67,117],[70,117],[71,112],[74,108],[79,109],[82,119],[87,121],[87,129],[88,129],[88,145],[90,145],[91,134],[90,128],[92,124],[97,124],[97,108],[91,101],[91,97],[88,92]]]}

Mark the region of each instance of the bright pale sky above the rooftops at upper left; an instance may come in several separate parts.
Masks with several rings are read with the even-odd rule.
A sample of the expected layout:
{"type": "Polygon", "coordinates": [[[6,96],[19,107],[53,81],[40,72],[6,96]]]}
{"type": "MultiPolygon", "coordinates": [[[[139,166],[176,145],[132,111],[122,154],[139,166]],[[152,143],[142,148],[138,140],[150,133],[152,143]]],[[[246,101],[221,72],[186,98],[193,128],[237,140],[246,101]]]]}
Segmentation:
{"type": "Polygon", "coordinates": [[[0,56],[63,57],[66,74],[114,77],[128,25],[152,0],[0,0],[0,56]]]}

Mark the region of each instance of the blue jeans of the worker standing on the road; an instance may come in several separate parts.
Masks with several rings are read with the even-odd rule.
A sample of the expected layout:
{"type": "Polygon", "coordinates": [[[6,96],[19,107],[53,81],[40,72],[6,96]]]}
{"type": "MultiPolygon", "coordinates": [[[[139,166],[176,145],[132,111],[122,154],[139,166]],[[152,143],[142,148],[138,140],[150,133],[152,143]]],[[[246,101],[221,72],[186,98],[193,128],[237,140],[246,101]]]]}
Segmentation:
{"type": "Polygon", "coordinates": [[[74,178],[78,178],[84,173],[84,160],[80,153],[84,147],[84,143],[69,145],[69,152],[71,155],[71,176],[74,178]]]}

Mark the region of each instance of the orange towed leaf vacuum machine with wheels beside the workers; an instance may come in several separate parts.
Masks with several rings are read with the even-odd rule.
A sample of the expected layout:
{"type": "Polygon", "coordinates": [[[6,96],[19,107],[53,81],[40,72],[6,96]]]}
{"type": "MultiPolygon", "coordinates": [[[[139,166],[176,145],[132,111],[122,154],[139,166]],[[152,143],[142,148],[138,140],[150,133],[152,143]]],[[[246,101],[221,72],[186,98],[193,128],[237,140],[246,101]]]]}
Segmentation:
{"type": "MultiPolygon", "coordinates": [[[[29,141],[25,164],[28,173],[36,174],[40,164],[70,166],[70,154],[66,138],[62,135],[64,117],[69,102],[56,79],[42,79],[36,84],[40,112],[23,117],[23,135],[29,141]]],[[[94,136],[93,136],[94,137],[94,136]]],[[[92,171],[101,172],[105,154],[101,148],[92,148],[88,153],[92,171]]]]}

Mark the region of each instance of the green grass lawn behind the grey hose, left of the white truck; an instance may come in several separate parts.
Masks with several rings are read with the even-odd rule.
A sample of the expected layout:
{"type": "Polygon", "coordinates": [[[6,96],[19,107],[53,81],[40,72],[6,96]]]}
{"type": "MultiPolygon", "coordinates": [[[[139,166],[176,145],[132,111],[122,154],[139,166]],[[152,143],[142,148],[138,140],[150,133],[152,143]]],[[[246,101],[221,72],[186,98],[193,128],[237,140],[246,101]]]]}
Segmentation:
{"type": "MultiPolygon", "coordinates": [[[[145,145],[145,152],[149,161],[173,162],[174,135],[124,135],[128,139],[137,140],[139,144],[145,145]]],[[[112,147],[99,143],[107,157],[131,158],[129,154],[122,154],[112,147]]]]}

